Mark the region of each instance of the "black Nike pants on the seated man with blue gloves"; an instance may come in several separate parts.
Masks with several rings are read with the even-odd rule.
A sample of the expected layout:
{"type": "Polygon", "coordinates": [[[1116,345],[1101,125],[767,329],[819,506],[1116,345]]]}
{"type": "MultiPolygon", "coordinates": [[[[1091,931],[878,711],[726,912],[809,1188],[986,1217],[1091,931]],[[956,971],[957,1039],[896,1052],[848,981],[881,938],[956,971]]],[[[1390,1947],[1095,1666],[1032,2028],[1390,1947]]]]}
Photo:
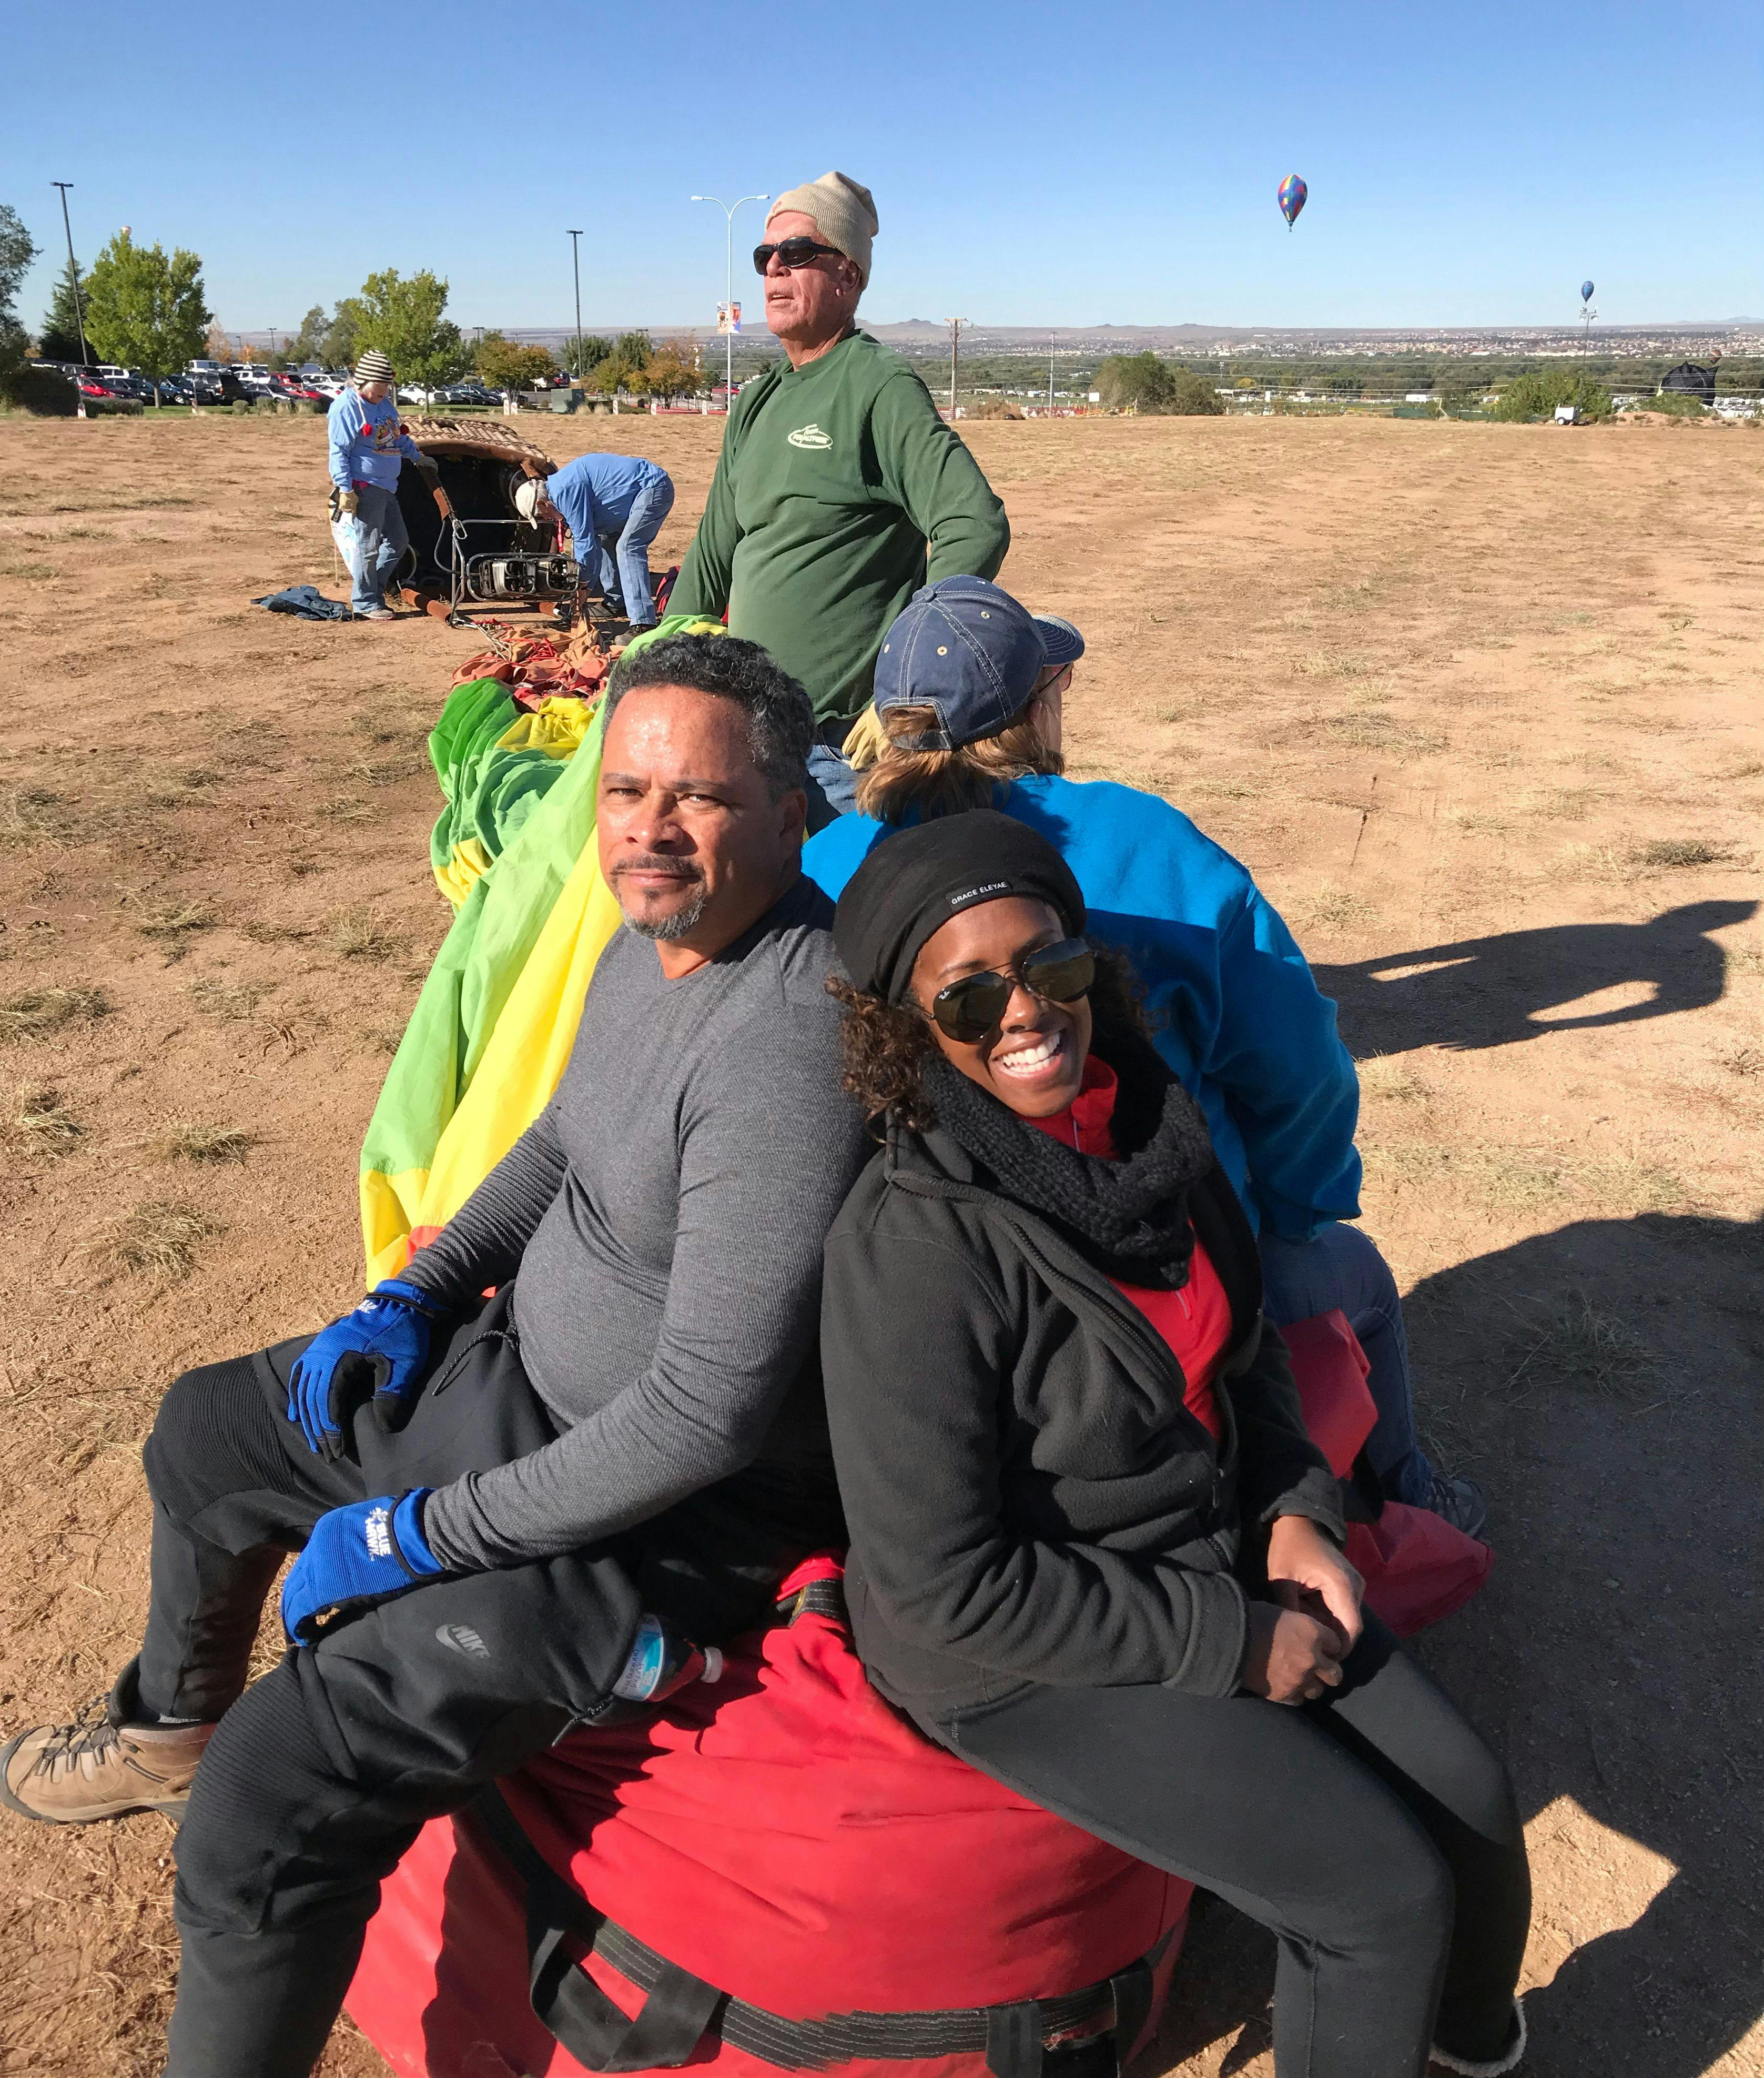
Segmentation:
{"type": "Polygon", "coordinates": [[[607,1544],[428,1581],[247,1689],[270,1581],[326,1509],[557,1434],[505,1299],[438,1349],[399,1434],[357,1413],[355,1461],[314,1457],[287,1419],[301,1349],[187,1371],[145,1448],[152,1604],[129,1714],[218,1719],[177,1843],[166,2078],[305,2078],[420,1827],[592,1721],[642,1610],[700,1644],[731,1637],[765,1621],[806,1548],[839,1538],[829,1477],[754,1467],[607,1544]]]}

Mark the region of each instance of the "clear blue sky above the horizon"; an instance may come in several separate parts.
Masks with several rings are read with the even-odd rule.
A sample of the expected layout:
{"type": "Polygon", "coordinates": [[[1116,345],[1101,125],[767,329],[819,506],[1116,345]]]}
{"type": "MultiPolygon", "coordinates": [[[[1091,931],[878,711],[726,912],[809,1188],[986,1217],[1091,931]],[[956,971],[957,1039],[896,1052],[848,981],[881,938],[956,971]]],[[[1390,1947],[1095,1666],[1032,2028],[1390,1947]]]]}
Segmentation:
{"type": "Polygon", "coordinates": [[[380,266],[445,274],[463,324],[567,324],[569,224],[584,322],[665,326],[723,295],[688,195],[827,166],[877,193],[877,320],[1550,324],[1587,274],[1606,322],[1718,320],[1764,316],[1762,48],[1758,0],[96,0],[15,17],[0,202],[44,247],[27,324],[52,179],[81,264],[118,224],[189,245],[233,328],[380,266]]]}

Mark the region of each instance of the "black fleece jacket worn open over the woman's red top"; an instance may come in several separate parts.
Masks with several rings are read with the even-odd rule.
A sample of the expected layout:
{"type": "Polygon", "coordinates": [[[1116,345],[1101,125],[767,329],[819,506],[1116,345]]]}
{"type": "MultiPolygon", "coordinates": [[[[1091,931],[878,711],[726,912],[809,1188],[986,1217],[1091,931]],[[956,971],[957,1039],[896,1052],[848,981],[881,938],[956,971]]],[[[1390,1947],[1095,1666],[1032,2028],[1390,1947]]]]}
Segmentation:
{"type": "Polygon", "coordinates": [[[1170,1344],[943,1130],[889,1133],[827,1236],[821,1361],[875,1685],[939,1716],[1024,1683],[1230,1696],[1261,1536],[1344,1534],[1261,1268],[1213,1166],[1195,1234],[1232,1303],[1220,1444],[1170,1344]]]}

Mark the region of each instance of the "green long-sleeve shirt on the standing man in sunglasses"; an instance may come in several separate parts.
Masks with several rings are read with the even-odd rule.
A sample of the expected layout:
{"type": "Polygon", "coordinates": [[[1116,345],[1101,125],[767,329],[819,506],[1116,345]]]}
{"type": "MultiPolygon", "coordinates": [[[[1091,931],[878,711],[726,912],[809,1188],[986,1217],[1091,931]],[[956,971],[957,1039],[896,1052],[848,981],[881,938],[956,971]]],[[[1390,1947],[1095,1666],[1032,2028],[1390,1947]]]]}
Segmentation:
{"type": "Polygon", "coordinates": [[[802,680],[823,725],[871,698],[881,640],[920,584],[993,578],[1010,522],[912,368],[852,332],[736,399],[669,613],[729,611],[802,680]]]}

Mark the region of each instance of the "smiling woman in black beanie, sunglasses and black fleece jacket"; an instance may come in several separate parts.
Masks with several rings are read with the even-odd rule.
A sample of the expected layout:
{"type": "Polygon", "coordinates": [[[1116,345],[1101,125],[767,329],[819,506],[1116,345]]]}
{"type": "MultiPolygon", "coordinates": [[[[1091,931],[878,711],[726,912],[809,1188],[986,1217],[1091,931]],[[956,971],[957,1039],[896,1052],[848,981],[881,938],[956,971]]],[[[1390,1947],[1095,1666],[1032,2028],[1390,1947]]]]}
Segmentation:
{"type": "Polygon", "coordinates": [[[1513,1791],[1361,1613],[1249,1222],[1083,929],[993,810],[839,896],[846,1087],[887,1124],[821,1315],[858,1652],[972,1766],[1278,1930],[1282,2070],[1508,2072],[1513,1791]]]}

